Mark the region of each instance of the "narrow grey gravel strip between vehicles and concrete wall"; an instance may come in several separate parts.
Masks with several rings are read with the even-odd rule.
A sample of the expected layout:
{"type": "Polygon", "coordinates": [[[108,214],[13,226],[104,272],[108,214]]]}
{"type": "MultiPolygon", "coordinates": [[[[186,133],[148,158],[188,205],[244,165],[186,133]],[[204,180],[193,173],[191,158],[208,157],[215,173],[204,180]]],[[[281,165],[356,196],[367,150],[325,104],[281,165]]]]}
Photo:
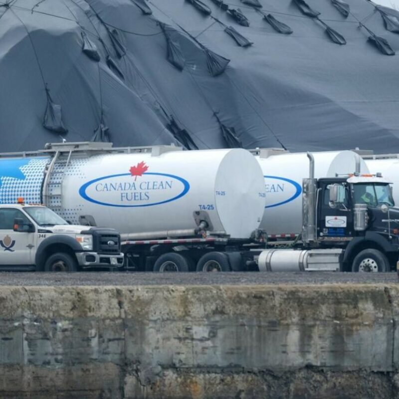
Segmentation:
{"type": "Polygon", "coordinates": [[[244,272],[244,273],[25,273],[0,272],[0,285],[252,285],[398,284],[397,273],[244,272]]]}

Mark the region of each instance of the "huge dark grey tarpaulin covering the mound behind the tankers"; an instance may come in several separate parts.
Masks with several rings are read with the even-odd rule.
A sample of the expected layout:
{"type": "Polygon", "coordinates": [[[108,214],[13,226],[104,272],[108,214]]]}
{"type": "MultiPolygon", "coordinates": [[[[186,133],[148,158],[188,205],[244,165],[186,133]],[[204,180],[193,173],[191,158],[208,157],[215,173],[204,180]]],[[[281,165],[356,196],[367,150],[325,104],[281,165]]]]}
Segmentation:
{"type": "Polygon", "coordinates": [[[387,30],[373,3],[345,0],[345,16],[331,0],[306,0],[346,40],[337,45],[292,0],[258,0],[262,8],[241,0],[200,1],[210,15],[185,0],[18,0],[1,6],[1,152],[43,148],[60,140],[64,131],[57,129],[68,130],[71,142],[112,140],[116,146],[241,143],[399,152],[399,34],[387,30]],[[226,12],[227,3],[249,26],[226,12]],[[263,13],[284,22],[291,34],[265,23],[263,13]],[[385,53],[371,45],[373,35],[359,29],[359,21],[392,51],[381,40],[385,53]],[[168,59],[160,23],[180,46],[183,69],[168,59]],[[237,45],[226,26],[253,44],[237,45]],[[125,52],[121,58],[115,38],[125,52]],[[85,51],[94,46],[99,60],[85,51]],[[56,131],[43,126],[45,115],[56,131]]]}

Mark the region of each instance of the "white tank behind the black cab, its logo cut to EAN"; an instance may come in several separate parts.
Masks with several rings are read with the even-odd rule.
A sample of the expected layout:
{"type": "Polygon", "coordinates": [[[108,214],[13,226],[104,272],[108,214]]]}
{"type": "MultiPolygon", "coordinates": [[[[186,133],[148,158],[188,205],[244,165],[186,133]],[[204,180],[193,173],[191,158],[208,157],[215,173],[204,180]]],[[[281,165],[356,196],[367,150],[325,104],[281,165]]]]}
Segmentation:
{"type": "MultiPolygon", "coordinates": [[[[259,228],[269,236],[298,234],[302,231],[302,179],[309,177],[309,159],[306,153],[281,153],[255,158],[259,162],[266,191],[266,205],[259,228]]],[[[355,172],[356,156],[353,151],[315,152],[315,178],[335,177],[355,172]]],[[[361,173],[369,173],[360,160],[361,173]]]]}

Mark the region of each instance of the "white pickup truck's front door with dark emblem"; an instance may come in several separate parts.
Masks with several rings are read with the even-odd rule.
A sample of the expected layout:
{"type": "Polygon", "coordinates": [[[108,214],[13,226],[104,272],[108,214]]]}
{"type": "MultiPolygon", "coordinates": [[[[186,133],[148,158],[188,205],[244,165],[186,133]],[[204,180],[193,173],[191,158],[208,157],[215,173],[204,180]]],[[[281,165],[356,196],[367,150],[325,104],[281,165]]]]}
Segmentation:
{"type": "Polygon", "coordinates": [[[33,265],[36,233],[14,231],[16,217],[23,219],[26,223],[31,222],[19,209],[0,209],[0,265],[33,265]]]}

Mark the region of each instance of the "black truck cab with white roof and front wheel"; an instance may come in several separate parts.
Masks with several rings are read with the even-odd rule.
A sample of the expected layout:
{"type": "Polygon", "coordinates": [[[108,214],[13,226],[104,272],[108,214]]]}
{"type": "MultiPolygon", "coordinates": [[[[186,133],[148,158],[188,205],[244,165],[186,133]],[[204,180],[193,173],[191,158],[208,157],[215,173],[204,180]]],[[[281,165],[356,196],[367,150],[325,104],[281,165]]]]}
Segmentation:
{"type": "Polygon", "coordinates": [[[399,255],[399,208],[381,176],[317,180],[316,241],[344,249],[343,271],[389,271],[399,255]]]}

